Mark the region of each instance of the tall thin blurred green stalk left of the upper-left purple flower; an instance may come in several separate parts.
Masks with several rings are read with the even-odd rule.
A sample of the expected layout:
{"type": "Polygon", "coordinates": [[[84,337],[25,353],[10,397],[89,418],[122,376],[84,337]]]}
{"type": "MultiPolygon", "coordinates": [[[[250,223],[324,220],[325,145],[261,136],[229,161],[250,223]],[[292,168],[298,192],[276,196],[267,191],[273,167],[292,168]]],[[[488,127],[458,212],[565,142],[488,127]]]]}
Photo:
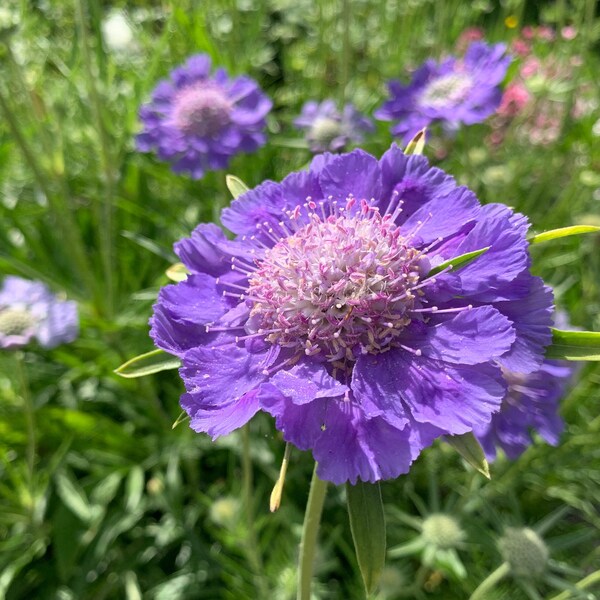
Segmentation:
{"type": "Polygon", "coordinates": [[[109,151],[108,136],[102,119],[102,101],[94,75],[96,70],[92,64],[90,51],[91,43],[85,20],[85,0],[75,0],[75,15],[79,36],[81,39],[81,51],[85,66],[88,95],[92,109],[92,115],[100,142],[100,157],[104,175],[104,201],[102,203],[99,217],[100,253],[102,256],[102,269],[104,272],[105,300],[107,316],[112,316],[114,310],[114,272],[113,272],[113,198],[115,196],[116,176],[113,169],[113,160],[109,151]]]}

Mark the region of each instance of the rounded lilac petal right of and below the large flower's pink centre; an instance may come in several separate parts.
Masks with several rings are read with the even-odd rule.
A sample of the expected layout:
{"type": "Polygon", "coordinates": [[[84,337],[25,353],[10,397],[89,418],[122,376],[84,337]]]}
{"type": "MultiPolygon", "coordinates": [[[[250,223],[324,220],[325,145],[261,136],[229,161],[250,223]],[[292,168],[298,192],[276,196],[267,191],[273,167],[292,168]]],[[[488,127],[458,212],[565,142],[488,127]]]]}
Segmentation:
{"type": "Polygon", "coordinates": [[[424,356],[476,365],[509,351],[515,341],[511,321],[491,306],[466,309],[450,320],[412,331],[405,343],[424,356]]]}

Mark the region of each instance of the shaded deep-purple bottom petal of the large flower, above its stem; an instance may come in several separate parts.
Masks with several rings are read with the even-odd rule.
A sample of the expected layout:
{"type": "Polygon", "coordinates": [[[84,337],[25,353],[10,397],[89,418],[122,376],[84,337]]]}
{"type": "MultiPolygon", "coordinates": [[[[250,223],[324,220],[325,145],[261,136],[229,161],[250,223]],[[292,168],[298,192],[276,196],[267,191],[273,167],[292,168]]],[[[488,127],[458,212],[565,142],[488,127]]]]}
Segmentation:
{"type": "Polygon", "coordinates": [[[337,485],[375,482],[407,473],[412,462],[410,431],[381,418],[366,419],[353,402],[330,400],[324,431],[313,448],[321,479],[337,485]]]}

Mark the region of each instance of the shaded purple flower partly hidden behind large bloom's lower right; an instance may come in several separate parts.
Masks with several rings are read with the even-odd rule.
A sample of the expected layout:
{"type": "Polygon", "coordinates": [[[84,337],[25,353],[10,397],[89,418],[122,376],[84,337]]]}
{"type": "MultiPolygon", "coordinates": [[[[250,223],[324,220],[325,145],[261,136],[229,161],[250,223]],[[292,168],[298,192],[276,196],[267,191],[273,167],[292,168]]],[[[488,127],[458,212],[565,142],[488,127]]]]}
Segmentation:
{"type": "Polygon", "coordinates": [[[558,444],[564,429],[558,408],[574,368],[565,361],[546,360],[533,373],[504,371],[508,391],[500,412],[474,431],[488,460],[496,458],[498,447],[509,459],[518,458],[532,444],[534,431],[548,444],[558,444]]]}

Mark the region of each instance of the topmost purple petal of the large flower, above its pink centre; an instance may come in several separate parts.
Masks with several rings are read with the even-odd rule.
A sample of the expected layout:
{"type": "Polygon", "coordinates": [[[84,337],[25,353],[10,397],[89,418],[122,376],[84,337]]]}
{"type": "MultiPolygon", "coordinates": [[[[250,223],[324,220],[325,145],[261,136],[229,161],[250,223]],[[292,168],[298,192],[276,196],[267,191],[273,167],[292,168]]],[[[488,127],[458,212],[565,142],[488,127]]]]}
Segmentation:
{"type": "Polygon", "coordinates": [[[345,202],[352,195],[358,200],[379,198],[381,173],[376,158],[363,150],[354,150],[332,158],[319,175],[325,197],[345,202]]]}

